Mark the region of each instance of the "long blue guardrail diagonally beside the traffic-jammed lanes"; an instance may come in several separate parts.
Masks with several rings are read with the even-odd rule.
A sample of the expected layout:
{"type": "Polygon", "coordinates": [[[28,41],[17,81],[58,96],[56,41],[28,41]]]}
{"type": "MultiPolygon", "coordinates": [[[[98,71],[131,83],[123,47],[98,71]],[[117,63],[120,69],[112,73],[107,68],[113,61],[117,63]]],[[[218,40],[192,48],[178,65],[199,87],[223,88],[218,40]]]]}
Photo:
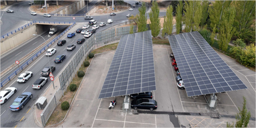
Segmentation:
{"type": "MultiPolygon", "coordinates": [[[[46,21],[48,22],[48,21],[46,21]]],[[[58,35],[56,38],[54,38],[51,42],[47,44],[47,46],[43,47],[39,52],[37,52],[33,57],[31,57],[27,62],[25,62],[22,66],[20,66],[16,71],[14,71],[10,76],[8,76],[5,80],[1,81],[1,87],[11,81],[13,77],[15,77],[20,71],[22,71],[26,66],[28,66],[35,58],[37,58],[40,54],[42,54],[46,47],[49,47],[51,44],[53,44],[55,41],[57,41],[61,36],[63,36],[70,28],[72,28],[76,22],[73,22],[71,26],[69,26],[66,30],[64,30],[60,35],[58,35]]]]}

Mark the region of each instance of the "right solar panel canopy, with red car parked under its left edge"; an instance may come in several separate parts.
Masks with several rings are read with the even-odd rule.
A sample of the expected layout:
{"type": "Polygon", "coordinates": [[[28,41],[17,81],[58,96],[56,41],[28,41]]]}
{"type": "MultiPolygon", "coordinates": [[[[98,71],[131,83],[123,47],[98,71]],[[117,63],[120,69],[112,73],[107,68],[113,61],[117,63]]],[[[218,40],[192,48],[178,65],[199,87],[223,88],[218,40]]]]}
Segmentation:
{"type": "Polygon", "coordinates": [[[198,31],[168,39],[188,96],[247,89],[198,31]]]}

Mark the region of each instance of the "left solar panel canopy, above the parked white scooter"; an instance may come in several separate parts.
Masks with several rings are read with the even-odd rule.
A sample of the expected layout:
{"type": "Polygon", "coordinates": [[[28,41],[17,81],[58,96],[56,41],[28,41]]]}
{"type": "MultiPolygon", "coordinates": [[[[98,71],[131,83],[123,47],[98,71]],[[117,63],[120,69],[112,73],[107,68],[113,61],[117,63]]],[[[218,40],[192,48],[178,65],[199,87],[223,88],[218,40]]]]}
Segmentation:
{"type": "Polygon", "coordinates": [[[99,99],[156,90],[151,30],[121,37],[99,99]]]}

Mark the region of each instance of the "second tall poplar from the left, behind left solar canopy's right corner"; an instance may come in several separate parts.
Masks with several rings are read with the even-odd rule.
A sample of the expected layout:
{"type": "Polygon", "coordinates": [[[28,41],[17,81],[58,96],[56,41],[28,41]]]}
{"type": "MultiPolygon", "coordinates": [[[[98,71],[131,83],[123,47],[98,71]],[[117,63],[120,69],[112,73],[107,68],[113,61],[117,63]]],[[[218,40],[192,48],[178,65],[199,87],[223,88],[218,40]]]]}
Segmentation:
{"type": "Polygon", "coordinates": [[[149,26],[150,26],[151,34],[153,37],[158,36],[161,29],[159,11],[160,9],[159,9],[158,3],[156,1],[153,1],[151,11],[149,12],[149,19],[150,19],[149,26]]]}

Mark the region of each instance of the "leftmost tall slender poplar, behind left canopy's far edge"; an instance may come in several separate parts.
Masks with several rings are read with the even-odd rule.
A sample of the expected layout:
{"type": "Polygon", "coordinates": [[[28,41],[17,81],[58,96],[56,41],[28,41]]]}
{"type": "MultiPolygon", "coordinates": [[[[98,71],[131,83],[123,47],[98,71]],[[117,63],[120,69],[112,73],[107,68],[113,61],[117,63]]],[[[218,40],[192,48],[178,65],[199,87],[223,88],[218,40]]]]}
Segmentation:
{"type": "Polygon", "coordinates": [[[138,15],[138,32],[147,31],[147,15],[146,15],[146,4],[143,2],[142,6],[139,7],[139,15],[138,15]]]}

